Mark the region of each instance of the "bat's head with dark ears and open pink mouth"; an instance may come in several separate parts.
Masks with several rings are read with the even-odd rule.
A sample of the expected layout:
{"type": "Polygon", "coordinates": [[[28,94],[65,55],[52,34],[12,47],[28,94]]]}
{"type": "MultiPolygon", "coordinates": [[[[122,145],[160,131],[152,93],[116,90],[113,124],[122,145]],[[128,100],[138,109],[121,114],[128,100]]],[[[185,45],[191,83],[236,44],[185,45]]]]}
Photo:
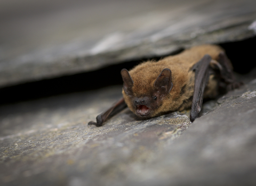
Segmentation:
{"type": "Polygon", "coordinates": [[[132,79],[126,69],[121,71],[124,81],[124,98],[128,107],[139,117],[149,118],[158,115],[163,99],[169,95],[173,84],[170,69],[164,69],[150,84],[148,80],[143,82],[142,77],[132,79]]]}

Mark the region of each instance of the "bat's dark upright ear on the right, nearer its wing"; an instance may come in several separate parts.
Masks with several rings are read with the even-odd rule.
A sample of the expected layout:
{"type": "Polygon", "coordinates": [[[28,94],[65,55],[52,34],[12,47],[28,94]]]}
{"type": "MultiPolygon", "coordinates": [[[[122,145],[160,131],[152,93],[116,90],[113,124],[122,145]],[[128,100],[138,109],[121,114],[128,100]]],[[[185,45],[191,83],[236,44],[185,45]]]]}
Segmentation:
{"type": "Polygon", "coordinates": [[[170,69],[164,69],[157,77],[154,87],[160,92],[160,96],[169,94],[172,89],[172,71],[170,69]]]}

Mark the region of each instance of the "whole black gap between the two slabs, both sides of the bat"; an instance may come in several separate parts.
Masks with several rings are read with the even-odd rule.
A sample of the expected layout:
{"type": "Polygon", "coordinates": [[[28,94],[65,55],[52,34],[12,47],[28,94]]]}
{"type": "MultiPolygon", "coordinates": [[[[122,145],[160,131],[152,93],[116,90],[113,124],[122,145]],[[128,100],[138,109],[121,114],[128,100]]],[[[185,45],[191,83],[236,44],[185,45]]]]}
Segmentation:
{"type": "MultiPolygon", "coordinates": [[[[248,73],[256,66],[253,56],[254,49],[252,47],[255,45],[255,42],[256,37],[243,41],[220,44],[226,50],[228,57],[234,65],[234,70],[237,73],[248,73]]],[[[169,55],[178,54],[181,51],[182,49],[169,55]]],[[[111,65],[92,72],[5,87],[0,89],[0,104],[22,102],[71,92],[93,90],[115,84],[123,84],[120,74],[122,69],[129,70],[141,62],[147,60],[157,61],[162,57],[143,58],[137,61],[111,65]]]]}

